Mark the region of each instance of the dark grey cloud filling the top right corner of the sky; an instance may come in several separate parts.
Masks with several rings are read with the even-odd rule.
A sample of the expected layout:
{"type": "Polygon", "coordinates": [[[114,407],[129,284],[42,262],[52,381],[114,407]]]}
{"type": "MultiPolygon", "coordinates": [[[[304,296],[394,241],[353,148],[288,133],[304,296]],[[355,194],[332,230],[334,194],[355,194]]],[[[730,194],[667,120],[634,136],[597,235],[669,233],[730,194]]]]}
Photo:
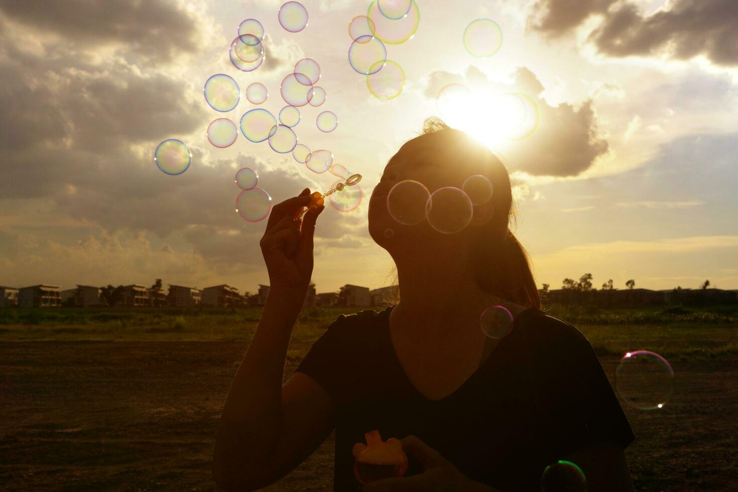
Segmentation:
{"type": "Polygon", "coordinates": [[[590,15],[604,20],[590,33],[599,52],[613,57],[659,56],[689,60],[704,55],[717,65],[738,65],[738,1],[675,0],[667,10],[643,15],[632,1],[582,2],[567,14],[571,2],[541,0],[534,7],[529,26],[557,36],[579,26],[590,15]],[[608,8],[610,7],[610,8],[608,8]]]}

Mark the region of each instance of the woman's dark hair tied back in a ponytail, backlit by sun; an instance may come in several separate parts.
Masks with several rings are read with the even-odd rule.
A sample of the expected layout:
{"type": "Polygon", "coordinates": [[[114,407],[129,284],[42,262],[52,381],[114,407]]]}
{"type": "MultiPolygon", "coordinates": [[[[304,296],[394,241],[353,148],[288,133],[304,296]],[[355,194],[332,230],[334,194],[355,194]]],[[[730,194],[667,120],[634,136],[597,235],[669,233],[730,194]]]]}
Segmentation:
{"type": "MultiPolygon", "coordinates": [[[[450,128],[439,118],[432,117],[424,121],[424,135],[440,132],[458,132],[460,138],[469,139],[462,131],[450,128]]],[[[480,230],[472,244],[472,260],[479,266],[474,269],[477,285],[483,291],[525,308],[540,309],[541,298],[531,271],[528,253],[509,229],[510,222],[515,219],[515,210],[512,208],[512,187],[508,170],[492,150],[472,142],[465,141],[464,145],[476,147],[473,153],[475,156],[473,167],[479,169],[478,174],[483,174],[492,182],[494,190],[492,219],[485,229],[480,230]]],[[[396,284],[398,282],[396,267],[391,274],[396,284]]],[[[399,289],[391,289],[384,302],[390,305],[399,302],[399,289]]]]}

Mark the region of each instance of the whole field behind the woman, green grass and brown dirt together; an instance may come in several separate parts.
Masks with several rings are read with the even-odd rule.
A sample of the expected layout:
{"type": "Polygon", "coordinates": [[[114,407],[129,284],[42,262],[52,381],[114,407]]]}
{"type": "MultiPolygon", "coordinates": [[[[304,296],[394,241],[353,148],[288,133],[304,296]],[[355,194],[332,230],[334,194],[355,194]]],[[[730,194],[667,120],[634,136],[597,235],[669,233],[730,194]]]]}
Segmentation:
{"type": "MultiPolygon", "coordinates": [[[[376,308],[381,309],[381,308],[376,308]]],[[[286,381],[339,313],[307,308],[286,381]]],[[[627,350],[675,370],[663,409],[624,405],[639,491],[723,491],[738,482],[738,308],[557,308],[611,378],[627,350]]],[[[0,310],[0,489],[215,490],[215,429],[261,308],[0,310]]],[[[268,491],[332,490],[334,434],[268,491]]]]}

